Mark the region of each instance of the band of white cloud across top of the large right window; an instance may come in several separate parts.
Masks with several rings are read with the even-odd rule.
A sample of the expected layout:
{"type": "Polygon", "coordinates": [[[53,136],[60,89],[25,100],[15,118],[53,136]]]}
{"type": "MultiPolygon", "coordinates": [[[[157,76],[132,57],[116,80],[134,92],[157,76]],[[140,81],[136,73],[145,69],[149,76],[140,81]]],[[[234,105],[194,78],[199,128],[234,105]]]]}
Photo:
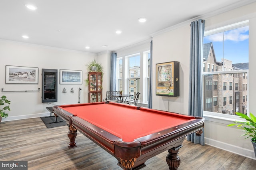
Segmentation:
{"type": "MultiPolygon", "coordinates": [[[[248,30],[249,30],[249,26],[226,31],[224,32],[224,40],[231,40],[235,42],[244,41],[249,38],[248,33],[246,33],[248,30]]],[[[222,33],[213,34],[213,35],[207,36],[207,39],[212,42],[222,42],[223,34],[222,33]]]]}

